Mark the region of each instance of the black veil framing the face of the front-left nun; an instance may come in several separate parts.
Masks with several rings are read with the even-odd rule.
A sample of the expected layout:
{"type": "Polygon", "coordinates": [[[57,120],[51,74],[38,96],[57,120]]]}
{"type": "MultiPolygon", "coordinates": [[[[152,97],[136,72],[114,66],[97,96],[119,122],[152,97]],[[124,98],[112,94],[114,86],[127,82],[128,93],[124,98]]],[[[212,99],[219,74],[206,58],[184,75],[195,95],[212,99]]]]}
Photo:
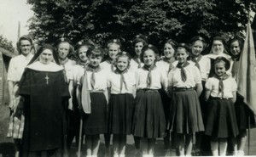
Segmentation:
{"type": "Polygon", "coordinates": [[[33,58],[31,59],[31,61],[28,63],[28,64],[32,64],[34,63],[36,60],[38,60],[39,56],[41,53],[44,52],[45,49],[49,49],[52,54],[53,54],[53,58],[55,60],[55,63],[56,64],[60,64],[60,61],[58,59],[58,54],[57,52],[55,51],[55,48],[53,46],[51,46],[50,44],[47,44],[47,43],[44,43],[39,49],[38,49],[38,52],[35,53],[35,55],[33,56],[33,58]]]}

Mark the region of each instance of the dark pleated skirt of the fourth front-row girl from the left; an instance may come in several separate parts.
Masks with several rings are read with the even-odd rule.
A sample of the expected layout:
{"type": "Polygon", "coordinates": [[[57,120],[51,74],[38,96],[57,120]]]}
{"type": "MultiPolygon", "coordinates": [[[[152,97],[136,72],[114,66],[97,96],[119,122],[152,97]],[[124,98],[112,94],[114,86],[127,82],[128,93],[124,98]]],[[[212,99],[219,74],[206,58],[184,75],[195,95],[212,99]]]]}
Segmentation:
{"type": "Polygon", "coordinates": [[[168,129],[184,134],[204,131],[201,107],[194,89],[173,93],[168,129]]]}

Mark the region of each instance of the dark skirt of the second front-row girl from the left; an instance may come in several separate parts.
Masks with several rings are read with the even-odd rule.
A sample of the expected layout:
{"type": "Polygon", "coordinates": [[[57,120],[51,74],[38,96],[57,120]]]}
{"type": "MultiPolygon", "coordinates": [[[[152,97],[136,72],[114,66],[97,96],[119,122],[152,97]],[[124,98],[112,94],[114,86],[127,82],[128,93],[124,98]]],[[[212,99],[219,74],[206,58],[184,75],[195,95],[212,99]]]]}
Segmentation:
{"type": "Polygon", "coordinates": [[[108,133],[131,134],[134,98],[131,93],[111,94],[109,99],[108,133]]]}

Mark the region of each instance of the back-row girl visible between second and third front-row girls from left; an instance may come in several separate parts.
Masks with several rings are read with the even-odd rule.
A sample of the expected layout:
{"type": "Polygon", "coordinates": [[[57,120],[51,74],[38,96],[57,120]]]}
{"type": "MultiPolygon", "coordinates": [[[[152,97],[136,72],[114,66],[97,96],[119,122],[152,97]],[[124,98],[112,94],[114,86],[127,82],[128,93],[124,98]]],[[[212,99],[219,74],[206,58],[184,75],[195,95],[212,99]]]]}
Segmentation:
{"type": "Polygon", "coordinates": [[[131,59],[131,70],[137,70],[138,68],[143,67],[143,62],[141,61],[142,49],[145,45],[148,44],[148,40],[143,35],[137,35],[132,41],[135,56],[131,59]]]}

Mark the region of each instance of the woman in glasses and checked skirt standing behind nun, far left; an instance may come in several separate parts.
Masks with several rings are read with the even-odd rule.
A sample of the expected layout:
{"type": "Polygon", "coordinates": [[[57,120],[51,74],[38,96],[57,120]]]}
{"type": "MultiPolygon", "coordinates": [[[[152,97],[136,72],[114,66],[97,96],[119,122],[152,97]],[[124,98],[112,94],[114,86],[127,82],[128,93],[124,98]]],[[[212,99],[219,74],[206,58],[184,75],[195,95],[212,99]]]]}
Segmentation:
{"type": "Polygon", "coordinates": [[[19,55],[15,56],[9,62],[8,70],[8,87],[9,87],[9,109],[11,111],[10,121],[9,121],[9,131],[7,137],[13,137],[15,140],[15,156],[19,156],[20,142],[23,134],[24,127],[24,116],[15,116],[18,104],[22,104],[23,99],[17,94],[18,82],[23,74],[23,71],[32,59],[32,38],[30,36],[21,36],[17,42],[17,48],[19,55]]]}

